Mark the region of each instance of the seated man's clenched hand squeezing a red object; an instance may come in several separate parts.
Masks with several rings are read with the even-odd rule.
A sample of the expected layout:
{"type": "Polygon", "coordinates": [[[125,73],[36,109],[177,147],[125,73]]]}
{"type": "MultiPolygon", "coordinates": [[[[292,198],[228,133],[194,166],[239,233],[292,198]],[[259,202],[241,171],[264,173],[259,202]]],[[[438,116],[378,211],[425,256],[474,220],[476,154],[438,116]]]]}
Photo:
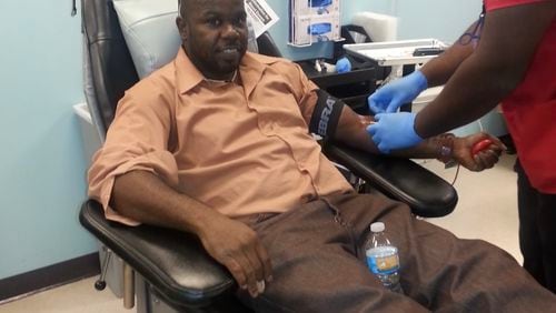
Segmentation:
{"type": "Polygon", "coordinates": [[[453,147],[453,156],[459,164],[464,165],[469,171],[479,172],[485,169],[490,169],[498,162],[503,151],[506,151],[506,145],[496,137],[487,133],[476,133],[464,138],[455,138],[453,147]],[[493,143],[486,149],[473,155],[473,145],[481,140],[489,139],[493,143]]]}

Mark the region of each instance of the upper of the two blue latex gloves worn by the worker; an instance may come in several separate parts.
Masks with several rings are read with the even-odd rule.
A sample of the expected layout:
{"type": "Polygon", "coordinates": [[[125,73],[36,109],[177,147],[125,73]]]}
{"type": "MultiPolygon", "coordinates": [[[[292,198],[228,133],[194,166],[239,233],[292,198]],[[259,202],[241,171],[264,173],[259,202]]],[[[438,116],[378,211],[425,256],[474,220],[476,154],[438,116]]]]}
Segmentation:
{"type": "Polygon", "coordinates": [[[375,113],[393,113],[404,103],[413,101],[427,89],[427,78],[420,71],[397,79],[375,91],[367,102],[375,113]]]}

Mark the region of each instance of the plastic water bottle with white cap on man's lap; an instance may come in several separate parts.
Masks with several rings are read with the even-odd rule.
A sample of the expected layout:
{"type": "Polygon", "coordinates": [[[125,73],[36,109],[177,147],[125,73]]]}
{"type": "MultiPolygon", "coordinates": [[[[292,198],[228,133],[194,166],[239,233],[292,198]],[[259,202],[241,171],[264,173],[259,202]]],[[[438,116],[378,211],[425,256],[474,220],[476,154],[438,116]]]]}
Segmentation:
{"type": "Polygon", "coordinates": [[[399,284],[398,249],[394,246],[385,233],[383,222],[370,224],[370,236],[365,244],[367,265],[390,291],[404,293],[399,284]]]}

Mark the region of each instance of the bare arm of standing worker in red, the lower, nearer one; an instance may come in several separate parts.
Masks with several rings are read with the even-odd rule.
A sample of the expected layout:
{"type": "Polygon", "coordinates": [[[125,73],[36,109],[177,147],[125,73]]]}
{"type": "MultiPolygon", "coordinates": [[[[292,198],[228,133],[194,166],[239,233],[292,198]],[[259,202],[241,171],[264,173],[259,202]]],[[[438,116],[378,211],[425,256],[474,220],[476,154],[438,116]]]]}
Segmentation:
{"type": "MultiPolygon", "coordinates": [[[[522,81],[536,47],[554,20],[556,1],[522,4],[488,12],[480,42],[443,92],[415,120],[427,138],[476,120],[522,81]]],[[[423,72],[435,77],[433,64],[423,72]]]]}

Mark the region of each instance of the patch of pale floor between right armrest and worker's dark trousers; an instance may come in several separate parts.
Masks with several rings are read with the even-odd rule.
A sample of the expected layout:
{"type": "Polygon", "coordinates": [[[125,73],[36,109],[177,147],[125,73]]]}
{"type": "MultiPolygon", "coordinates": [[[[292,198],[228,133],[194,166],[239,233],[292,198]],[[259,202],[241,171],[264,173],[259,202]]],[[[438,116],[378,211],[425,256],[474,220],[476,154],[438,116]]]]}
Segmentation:
{"type": "MultiPolygon", "coordinates": [[[[515,155],[503,155],[495,168],[484,172],[461,168],[454,184],[459,196],[456,210],[445,218],[428,221],[459,238],[494,243],[522,263],[514,162],[515,155]]],[[[456,168],[444,170],[438,161],[427,161],[423,165],[449,182],[454,180],[456,168]]]]}

